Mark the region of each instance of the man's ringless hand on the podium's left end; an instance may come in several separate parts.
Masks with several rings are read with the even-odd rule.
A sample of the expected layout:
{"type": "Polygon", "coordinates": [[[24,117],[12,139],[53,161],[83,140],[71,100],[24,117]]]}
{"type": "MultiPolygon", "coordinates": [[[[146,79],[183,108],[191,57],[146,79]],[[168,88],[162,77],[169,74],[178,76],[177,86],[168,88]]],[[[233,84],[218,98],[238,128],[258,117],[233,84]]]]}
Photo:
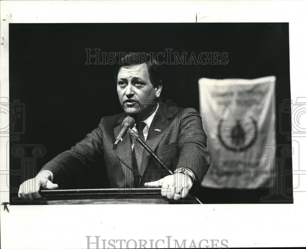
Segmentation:
{"type": "MultiPolygon", "coordinates": [[[[45,172],[44,172],[45,173],[45,172]]],[[[40,198],[39,190],[57,189],[58,185],[49,180],[50,174],[38,174],[35,178],[28,179],[19,187],[18,196],[23,200],[34,200],[40,198]]]]}

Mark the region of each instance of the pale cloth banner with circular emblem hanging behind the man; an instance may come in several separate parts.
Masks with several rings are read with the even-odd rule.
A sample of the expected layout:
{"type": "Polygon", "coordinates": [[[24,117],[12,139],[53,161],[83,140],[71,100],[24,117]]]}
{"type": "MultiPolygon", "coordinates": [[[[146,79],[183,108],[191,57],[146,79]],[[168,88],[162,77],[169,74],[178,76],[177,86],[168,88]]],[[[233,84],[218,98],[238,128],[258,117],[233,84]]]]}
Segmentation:
{"type": "Polygon", "coordinates": [[[202,186],[269,187],[270,158],[263,145],[275,145],[275,77],[199,80],[200,115],[211,166],[202,186]]]}

